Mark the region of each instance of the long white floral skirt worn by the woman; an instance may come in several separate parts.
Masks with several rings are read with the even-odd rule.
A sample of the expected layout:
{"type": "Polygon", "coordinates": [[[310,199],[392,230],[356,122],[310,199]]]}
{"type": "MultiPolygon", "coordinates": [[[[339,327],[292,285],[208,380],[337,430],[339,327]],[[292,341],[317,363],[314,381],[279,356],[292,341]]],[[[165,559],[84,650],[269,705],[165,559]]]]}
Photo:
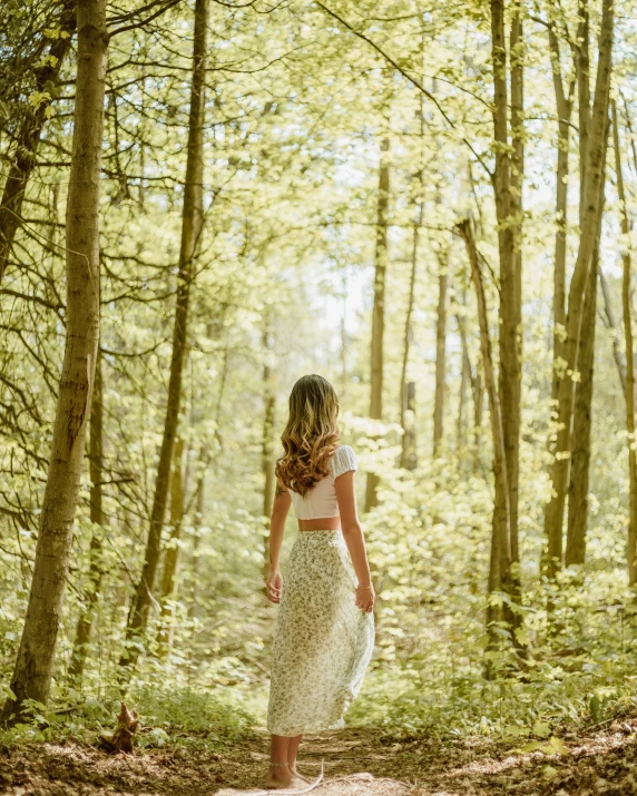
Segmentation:
{"type": "Polygon", "coordinates": [[[344,726],[374,647],[374,616],[356,608],[355,592],[342,531],[300,531],[274,631],[267,707],[273,735],[344,726]]]}

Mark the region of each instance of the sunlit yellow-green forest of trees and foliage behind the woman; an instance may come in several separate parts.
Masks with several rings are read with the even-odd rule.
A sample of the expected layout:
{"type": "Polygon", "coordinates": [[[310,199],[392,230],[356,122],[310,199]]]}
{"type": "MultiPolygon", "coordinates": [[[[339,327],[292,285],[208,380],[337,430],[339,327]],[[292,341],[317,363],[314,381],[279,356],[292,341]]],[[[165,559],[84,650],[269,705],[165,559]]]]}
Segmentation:
{"type": "Polygon", "coordinates": [[[121,692],[263,723],[305,373],[379,596],[349,721],[532,738],[635,705],[634,12],[6,0],[6,734],[121,692]]]}

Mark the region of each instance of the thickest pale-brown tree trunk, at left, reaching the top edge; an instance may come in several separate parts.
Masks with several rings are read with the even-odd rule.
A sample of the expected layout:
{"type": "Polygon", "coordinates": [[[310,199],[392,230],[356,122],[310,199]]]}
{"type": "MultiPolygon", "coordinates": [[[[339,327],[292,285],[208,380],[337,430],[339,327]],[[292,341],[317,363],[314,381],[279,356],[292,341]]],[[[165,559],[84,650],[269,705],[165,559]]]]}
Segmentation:
{"type": "Polygon", "coordinates": [[[66,272],[67,336],[40,532],[16,668],[0,720],[26,699],[49,697],[72,525],[84,462],[99,336],[99,175],[106,73],[106,3],[77,7],[78,69],[69,175],[66,272]]]}

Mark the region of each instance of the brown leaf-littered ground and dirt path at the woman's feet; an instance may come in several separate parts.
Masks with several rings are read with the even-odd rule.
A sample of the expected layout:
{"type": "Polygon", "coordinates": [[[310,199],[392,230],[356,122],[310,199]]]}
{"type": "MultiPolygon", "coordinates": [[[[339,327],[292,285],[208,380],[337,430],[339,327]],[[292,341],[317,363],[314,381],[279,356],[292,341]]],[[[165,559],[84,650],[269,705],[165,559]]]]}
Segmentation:
{"type": "MultiPolygon", "coordinates": [[[[565,753],[545,755],[516,751],[511,741],[484,737],[398,741],[371,729],[347,728],[308,737],[301,747],[300,770],[316,776],[324,761],[325,778],[314,796],[637,794],[637,716],[588,731],[565,728],[559,736],[565,753]]],[[[265,735],[222,751],[177,746],[116,756],[70,740],[0,746],[0,793],[254,795],[266,763],[265,735]]]]}

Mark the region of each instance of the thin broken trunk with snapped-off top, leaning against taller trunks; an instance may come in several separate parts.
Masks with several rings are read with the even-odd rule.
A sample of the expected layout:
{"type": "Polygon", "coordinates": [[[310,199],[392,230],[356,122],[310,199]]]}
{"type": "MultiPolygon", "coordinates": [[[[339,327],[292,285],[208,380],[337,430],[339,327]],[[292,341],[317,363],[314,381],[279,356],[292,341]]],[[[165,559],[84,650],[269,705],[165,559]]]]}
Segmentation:
{"type": "MultiPolygon", "coordinates": [[[[500,396],[496,383],[493,368],[493,355],[491,346],[491,335],[489,332],[489,314],[487,311],[487,297],[480,258],[476,247],[471,222],[464,219],[458,225],[458,229],[464,245],[469,263],[471,265],[471,278],[476,287],[478,302],[478,322],[480,325],[480,348],[482,352],[482,367],[484,372],[484,384],[489,399],[489,415],[491,420],[491,435],[493,439],[493,475],[496,497],[493,505],[491,556],[489,563],[488,590],[492,594],[496,591],[511,591],[511,524],[509,513],[509,487],[507,483],[507,458],[504,450],[504,431],[502,426],[502,413],[500,409],[500,396]]],[[[497,635],[494,622],[499,618],[499,611],[489,601],[487,607],[487,628],[491,637],[491,645],[496,645],[497,635]]]]}

